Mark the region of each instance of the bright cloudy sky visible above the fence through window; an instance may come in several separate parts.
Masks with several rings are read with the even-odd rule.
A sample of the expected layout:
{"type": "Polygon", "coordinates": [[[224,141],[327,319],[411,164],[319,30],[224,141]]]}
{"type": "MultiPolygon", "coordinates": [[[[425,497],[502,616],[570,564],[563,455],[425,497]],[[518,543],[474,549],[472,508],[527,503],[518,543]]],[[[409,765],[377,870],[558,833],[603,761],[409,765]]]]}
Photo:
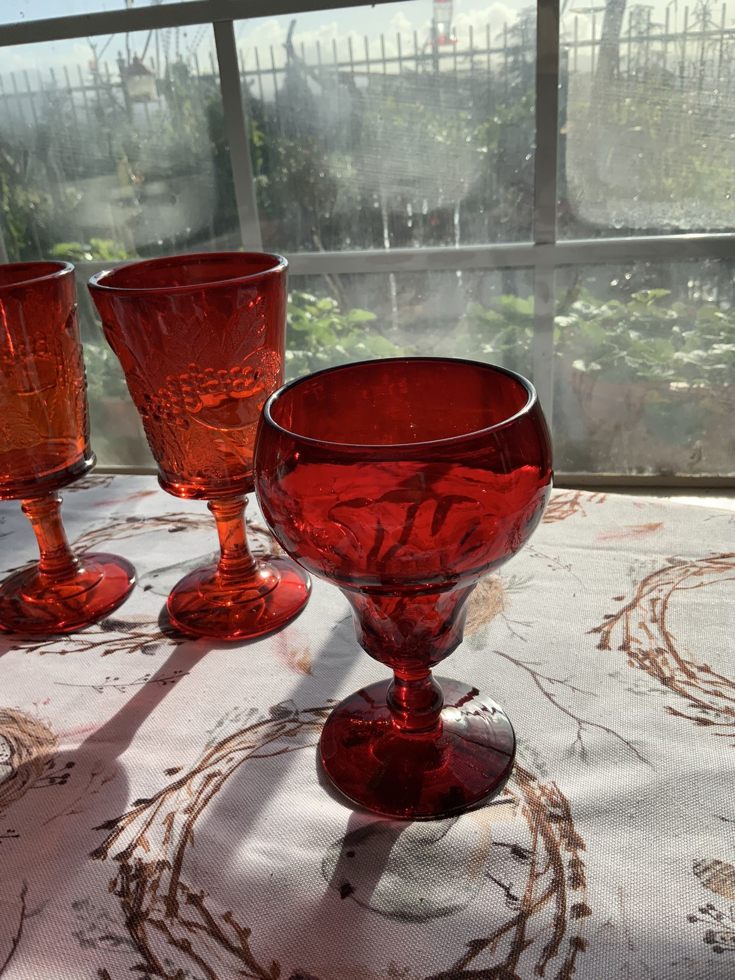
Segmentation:
{"type": "MultiPolygon", "coordinates": [[[[148,6],[149,2],[150,0],[134,0],[134,6],[148,6]]],[[[164,3],[166,2],[167,0],[164,0],[164,3]]],[[[603,6],[605,0],[592,0],[592,3],[590,0],[565,0],[565,2],[568,18],[570,11],[589,6],[603,6]]],[[[695,2],[696,0],[689,0],[689,6],[692,10],[695,2]]],[[[0,24],[18,20],[50,18],[58,16],[60,10],[63,10],[64,14],[82,14],[99,10],[121,9],[124,6],[125,0],[0,0],[0,24]]],[[[243,4],[243,6],[246,5],[243,4]]],[[[485,37],[486,25],[490,24],[493,43],[497,43],[497,36],[498,33],[502,32],[503,25],[512,25],[518,11],[528,6],[529,0],[491,0],[491,2],[484,4],[481,0],[454,0],[455,33],[463,42],[463,46],[466,46],[469,26],[472,25],[476,43],[479,44],[481,39],[485,37]]],[[[630,6],[630,0],[628,6],[630,6]]],[[[671,29],[675,29],[676,23],[682,21],[684,0],[653,0],[650,6],[652,7],[654,21],[661,23],[664,9],[666,6],[669,7],[671,29]]],[[[718,19],[719,3],[714,4],[714,6],[717,8],[716,16],[718,19]]],[[[729,6],[731,7],[731,15],[735,14],[735,0],[731,0],[729,6]]],[[[366,36],[368,37],[370,57],[378,57],[381,51],[380,35],[382,33],[384,34],[386,54],[391,56],[396,53],[397,33],[401,34],[403,51],[413,51],[414,31],[417,31],[418,43],[421,45],[428,36],[430,20],[431,0],[404,0],[400,3],[381,4],[374,8],[364,6],[339,11],[299,14],[296,16],[294,41],[297,50],[301,43],[305,45],[307,54],[311,55],[308,60],[312,61],[316,53],[316,41],[319,39],[322,57],[325,61],[329,61],[332,58],[332,42],[336,40],[338,57],[340,60],[346,60],[348,57],[348,37],[353,39],[356,59],[363,56],[366,36]]],[[[728,20],[732,21],[733,17],[731,16],[728,20]]],[[[255,67],[255,47],[259,50],[261,65],[264,65],[264,61],[270,65],[271,45],[275,64],[283,64],[285,58],[283,42],[290,21],[290,16],[284,16],[236,23],[237,45],[245,59],[246,68],[255,67]]],[[[690,12],[691,23],[692,13],[690,12]]],[[[570,29],[569,20],[566,21],[566,25],[570,29]]],[[[598,14],[596,36],[599,36],[601,25],[602,15],[598,14]]],[[[591,17],[588,14],[580,13],[579,38],[589,37],[590,28],[591,17]]],[[[141,51],[145,39],[145,32],[130,35],[131,50],[133,52],[141,51]]],[[[94,39],[97,49],[99,50],[107,40],[107,36],[94,39]]],[[[174,31],[162,32],[159,40],[162,46],[166,45],[172,51],[175,48],[176,33],[174,31]]],[[[177,40],[182,53],[196,50],[200,64],[202,64],[202,71],[209,71],[210,53],[214,50],[211,26],[181,28],[177,40]]],[[[105,49],[103,60],[109,61],[111,70],[114,70],[118,51],[123,48],[124,37],[119,34],[112,38],[105,49]]],[[[149,47],[147,58],[150,58],[152,54],[153,48],[149,47]]],[[[24,70],[28,72],[41,70],[45,73],[49,68],[63,68],[64,66],[68,66],[74,73],[79,68],[84,70],[91,57],[90,46],[84,38],[0,48],[0,73],[7,75],[11,71],[22,73],[24,70]]]]}

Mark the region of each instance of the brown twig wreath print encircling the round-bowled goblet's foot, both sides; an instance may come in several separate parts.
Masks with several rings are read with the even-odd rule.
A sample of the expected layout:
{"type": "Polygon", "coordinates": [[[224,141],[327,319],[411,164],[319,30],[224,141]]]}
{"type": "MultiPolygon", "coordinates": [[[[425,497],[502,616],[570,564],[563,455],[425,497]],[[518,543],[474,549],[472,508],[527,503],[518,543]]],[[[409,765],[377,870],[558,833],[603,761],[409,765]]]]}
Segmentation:
{"type": "MultiPolygon", "coordinates": [[[[258,955],[251,929],[235,911],[215,910],[208,893],[185,880],[186,852],[197,820],[243,763],[314,747],[329,711],[297,711],[290,703],[275,706],[270,718],[221,739],[190,771],[99,828],[110,833],[92,858],[117,862],[110,889],[121,902],[126,928],[141,956],[139,970],[163,980],[177,980],[188,975],[186,971],[208,980],[280,976],[277,953],[258,955]]],[[[541,784],[518,765],[507,794],[530,842],[528,847],[510,848],[522,868],[520,894],[516,898],[509,888],[507,921],[472,940],[455,965],[432,980],[480,980],[490,975],[488,968],[471,964],[488,956],[493,959],[493,976],[515,977],[522,957],[524,963],[534,963],[540,976],[553,963],[555,976],[569,980],[577,956],[586,948],[582,928],[591,910],[581,857],[584,842],[568,801],[556,784],[541,784]]],[[[391,969],[399,967],[394,964],[391,969]]],[[[297,975],[307,976],[293,974],[297,975]]]]}

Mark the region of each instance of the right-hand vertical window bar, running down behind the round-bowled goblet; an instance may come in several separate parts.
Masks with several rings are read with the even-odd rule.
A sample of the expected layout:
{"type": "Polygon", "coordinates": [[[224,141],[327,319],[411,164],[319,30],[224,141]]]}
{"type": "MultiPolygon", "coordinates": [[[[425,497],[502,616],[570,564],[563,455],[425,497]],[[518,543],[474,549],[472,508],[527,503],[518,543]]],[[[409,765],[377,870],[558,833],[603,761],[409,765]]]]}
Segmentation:
{"type": "MultiPolygon", "coordinates": [[[[559,0],[537,0],[535,246],[555,246],[557,240],[558,138],[559,0]]],[[[536,265],[533,278],[533,383],[550,427],[554,408],[554,281],[554,265],[536,265]]]]}

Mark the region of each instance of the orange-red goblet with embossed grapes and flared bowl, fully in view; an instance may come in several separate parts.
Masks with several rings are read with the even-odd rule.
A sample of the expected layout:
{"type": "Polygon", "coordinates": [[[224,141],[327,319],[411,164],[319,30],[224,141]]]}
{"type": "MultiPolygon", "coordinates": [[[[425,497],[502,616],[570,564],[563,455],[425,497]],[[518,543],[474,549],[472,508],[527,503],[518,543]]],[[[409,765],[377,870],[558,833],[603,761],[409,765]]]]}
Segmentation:
{"type": "Polygon", "coordinates": [[[279,256],[223,252],[132,263],[89,280],[159,483],[209,501],[217,520],[219,562],[190,572],[168,600],[173,625],[191,636],[259,636],[309,597],[298,565],[253,558],[244,520],[258,419],[283,380],[286,270],[279,256]]]}

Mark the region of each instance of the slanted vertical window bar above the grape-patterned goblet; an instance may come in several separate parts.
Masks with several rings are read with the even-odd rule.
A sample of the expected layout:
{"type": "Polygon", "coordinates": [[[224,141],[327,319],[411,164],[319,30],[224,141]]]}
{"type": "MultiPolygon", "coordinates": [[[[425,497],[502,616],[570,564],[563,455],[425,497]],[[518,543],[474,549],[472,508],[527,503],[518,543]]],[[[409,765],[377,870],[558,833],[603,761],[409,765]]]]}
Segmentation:
{"type": "Polygon", "coordinates": [[[213,26],[220,68],[224,132],[227,136],[229,165],[232,169],[240,238],[246,251],[260,252],[263,249],[261,222],[258,216],[253,164],[250,158],[248,127],[242,104],[234,25],[231,21],[218,21],[213,26]]]}

